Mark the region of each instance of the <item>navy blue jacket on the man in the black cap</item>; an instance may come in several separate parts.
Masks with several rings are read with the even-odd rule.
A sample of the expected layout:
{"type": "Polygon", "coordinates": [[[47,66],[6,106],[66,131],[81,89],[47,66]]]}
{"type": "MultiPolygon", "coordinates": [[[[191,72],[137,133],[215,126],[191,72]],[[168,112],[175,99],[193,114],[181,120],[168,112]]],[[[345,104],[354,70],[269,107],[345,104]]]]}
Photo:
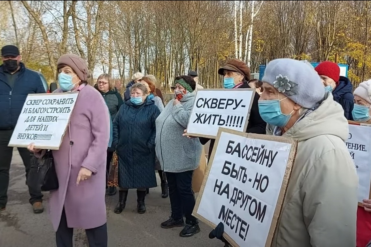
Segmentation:
{"type": "Polygon", "coordinates": [[[36,71],[27,69],[20,63],[13,87],[7,81],[4,66],[0,66],[0,130],[12,130],[16,127],[24,101],[30,93],[45,93],[43,83],[36,71]]]}

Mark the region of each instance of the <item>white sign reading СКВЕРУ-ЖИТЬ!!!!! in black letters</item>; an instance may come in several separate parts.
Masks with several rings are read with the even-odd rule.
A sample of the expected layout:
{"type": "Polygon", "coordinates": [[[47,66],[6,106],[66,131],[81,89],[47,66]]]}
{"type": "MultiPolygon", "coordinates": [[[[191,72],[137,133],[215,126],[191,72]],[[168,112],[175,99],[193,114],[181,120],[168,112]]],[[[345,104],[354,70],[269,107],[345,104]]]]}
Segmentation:
{"type": "Polygon", "coordinates": [[[218,128],[246,131],[255,89],[198,89],[189,136],[215,138],[218,128]]]}

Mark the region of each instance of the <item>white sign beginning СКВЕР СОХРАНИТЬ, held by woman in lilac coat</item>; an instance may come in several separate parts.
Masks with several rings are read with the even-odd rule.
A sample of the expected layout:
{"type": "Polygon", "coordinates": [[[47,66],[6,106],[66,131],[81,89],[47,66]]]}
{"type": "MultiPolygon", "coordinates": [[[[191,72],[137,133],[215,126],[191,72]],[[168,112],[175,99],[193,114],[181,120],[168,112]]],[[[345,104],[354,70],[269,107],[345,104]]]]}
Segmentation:
{"type": "Polygon", "coordinates": [[[35,143],[36,148],[58,150],[77,96],[78,92],[29,94],[8,146],[35,143]]]}

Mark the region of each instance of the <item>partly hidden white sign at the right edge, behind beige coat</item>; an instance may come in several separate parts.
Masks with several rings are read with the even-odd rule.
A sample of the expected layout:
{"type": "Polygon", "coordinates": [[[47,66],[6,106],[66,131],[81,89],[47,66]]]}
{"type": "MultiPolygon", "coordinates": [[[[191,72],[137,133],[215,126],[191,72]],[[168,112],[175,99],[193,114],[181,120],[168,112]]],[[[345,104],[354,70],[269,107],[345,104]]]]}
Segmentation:
{"type": "Polygon", "coordinates": [[[358,202],[370,199],[371,126],[349,124],[347,147],[358,174],[358,202]]]}

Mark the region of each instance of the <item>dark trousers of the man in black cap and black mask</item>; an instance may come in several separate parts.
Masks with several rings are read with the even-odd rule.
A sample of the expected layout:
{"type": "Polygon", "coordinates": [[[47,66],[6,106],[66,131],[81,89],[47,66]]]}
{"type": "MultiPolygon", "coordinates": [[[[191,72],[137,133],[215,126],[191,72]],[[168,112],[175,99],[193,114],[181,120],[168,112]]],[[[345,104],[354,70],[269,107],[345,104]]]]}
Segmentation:
{"type": "MultiPolygon", "coordinates": [[[[0,130],[0,207],[5,207],[8,202],[7,191],[9,186],[9,170],[12,163],[13,147],[8,147],[10,137],[12,137],[13,130],[0,130]]],[[[26,169],[26,177],[30,171],[32,154],[27,148],[18,148],[19,155],[23,160],[26,169]]],[[[37,201],[42,202],[43,194],[41,191],[35,191],[28,188],[30,193],[31,204],[37,201]]]]}

